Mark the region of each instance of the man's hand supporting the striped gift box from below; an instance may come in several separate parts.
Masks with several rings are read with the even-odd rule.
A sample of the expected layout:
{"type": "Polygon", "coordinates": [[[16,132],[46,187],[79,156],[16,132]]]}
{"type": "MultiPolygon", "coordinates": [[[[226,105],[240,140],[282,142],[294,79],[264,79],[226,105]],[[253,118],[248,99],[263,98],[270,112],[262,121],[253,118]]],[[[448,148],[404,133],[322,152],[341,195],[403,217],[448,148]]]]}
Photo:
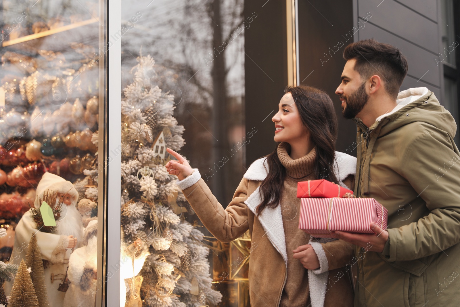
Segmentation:
{"type": "Polygon", "coordinates": [[[337,239],[342,239],[348,243],[355,244],[359,247],[368,248],[372,252],[381,253],[388,241],[388,232],[382,229],[374,222],[371,223],[371,229],[374,234],[356,234],[350,232],[332,232],[332,235],[337,239]],[[368,243],[372,246],[369,248],[368,243]]]}

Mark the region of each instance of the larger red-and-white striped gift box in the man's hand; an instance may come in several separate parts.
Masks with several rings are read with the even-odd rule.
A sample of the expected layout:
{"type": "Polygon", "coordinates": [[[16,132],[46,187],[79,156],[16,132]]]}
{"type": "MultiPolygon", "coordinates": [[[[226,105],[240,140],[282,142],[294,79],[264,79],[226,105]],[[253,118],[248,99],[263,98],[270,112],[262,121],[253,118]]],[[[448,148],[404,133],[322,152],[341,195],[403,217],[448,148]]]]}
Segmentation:
{"type": "Polygon", "coordinates": [[[333,231],[374,233],[370,223],[386,229],[388,210],[374,198],[302,198],[299,229],[313,237],[333,231]]]}

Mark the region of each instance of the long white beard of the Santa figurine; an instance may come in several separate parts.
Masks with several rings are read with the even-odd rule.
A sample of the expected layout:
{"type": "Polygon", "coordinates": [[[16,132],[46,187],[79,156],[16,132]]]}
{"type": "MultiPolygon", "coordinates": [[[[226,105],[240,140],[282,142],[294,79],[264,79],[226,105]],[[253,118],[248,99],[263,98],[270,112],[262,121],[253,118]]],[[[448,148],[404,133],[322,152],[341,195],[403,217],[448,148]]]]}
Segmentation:
{"type": "Polygon", "coordinates": [[[61,207],[62,218],[56,222],[57,234],[64,236],[74,236],[77,238],[77,244],[82,242],[83,239],[83,223],[81,221],[81,214],[73,204],[67,206],[65,204],[61,207]]]}

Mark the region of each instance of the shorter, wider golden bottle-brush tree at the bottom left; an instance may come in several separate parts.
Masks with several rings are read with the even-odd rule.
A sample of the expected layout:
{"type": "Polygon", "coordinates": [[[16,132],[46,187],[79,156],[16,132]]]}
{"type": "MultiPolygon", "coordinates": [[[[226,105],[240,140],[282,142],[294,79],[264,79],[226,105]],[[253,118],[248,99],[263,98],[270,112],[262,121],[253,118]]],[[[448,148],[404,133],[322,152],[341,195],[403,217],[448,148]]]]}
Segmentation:
{"type": "Polygon", "coordinates": [[[14,278],[8,307],[40,307],[34,284],[32,284],[32,279],[30,278],[24,259],[21,260],[16,277],[14,278]]]}

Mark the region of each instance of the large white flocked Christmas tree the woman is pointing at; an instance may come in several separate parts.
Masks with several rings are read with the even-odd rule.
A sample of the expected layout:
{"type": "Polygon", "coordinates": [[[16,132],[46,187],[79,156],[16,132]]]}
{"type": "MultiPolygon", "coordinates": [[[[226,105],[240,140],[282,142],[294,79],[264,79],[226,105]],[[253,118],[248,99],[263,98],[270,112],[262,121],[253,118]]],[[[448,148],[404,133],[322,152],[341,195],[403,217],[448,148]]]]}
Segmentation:
{"type": "Polygon", "coordinates": [[[203,233],[185,220],[185,212],[193,210],[177,177],[164,167],[171,159],[166,146],[179,151],[185,144],[184,127],[173,117],[171,93],[156,83],[154,59],[148,55],[137,60],[131,70],[134,80],[121,101],[124,244],[140,238],[150,252],[139,272],[144,306],[213,306],[222,295],[211,289],[209,248],[202,243],[203,233]]]}

